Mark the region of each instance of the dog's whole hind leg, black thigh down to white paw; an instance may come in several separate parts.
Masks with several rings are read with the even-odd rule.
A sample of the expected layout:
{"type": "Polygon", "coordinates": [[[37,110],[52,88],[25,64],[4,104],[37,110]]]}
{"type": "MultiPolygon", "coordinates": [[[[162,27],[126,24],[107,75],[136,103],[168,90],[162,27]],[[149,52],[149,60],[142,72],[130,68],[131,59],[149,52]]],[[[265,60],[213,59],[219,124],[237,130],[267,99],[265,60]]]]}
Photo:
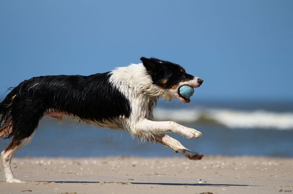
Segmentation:
{"type": "Polygon", "coordinates": [[[0,103],[0,137],[12,138],[10,144],[1,152],[6,182],[21,182],[12,173],[10,163],[13,155],[34,136],[44,113],[44,104],[38,95],[29,88],[14,88],[0,103]]]}

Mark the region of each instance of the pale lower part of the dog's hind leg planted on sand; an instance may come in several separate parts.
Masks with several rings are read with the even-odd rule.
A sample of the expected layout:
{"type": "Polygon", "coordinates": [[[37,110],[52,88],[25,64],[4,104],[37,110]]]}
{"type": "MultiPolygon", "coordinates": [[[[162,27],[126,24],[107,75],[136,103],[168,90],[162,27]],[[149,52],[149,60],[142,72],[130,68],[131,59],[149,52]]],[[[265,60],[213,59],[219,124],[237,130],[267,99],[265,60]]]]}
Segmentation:
{"type": "Polygon", "coordinates": [[[16,182],[21,183],[21,180],[18,180],[14,177],[12,170],[11,170],[11,159],[13,155],[21,149],[22,146],[26,145],[31,141],[35,134],[35,131],[27,138],[21,140],[20,143],[16,141],[16,138],[13,138],[13,140],[10,142],[10,144],[1,152],[1,162],[4,169],[4,176],[6,179],[6,182],[16,182]]]}

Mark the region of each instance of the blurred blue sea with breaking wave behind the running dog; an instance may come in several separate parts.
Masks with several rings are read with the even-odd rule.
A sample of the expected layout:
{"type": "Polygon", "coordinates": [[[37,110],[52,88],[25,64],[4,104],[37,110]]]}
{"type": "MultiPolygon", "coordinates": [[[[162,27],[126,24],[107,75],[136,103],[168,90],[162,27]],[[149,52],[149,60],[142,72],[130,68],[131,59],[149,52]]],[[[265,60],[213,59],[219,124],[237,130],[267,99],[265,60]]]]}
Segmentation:
{"type": "MultiPolygon", "coordinates": [[[[199,139],[169,134],[204,155],[293,157],[293,102],[160,100],[157,121],[175,121],[203,133],[199,139]]],[[[0,140],[3,150],[8,139],[0,140]]],[[[17,157],[171,157],[179,156],[156,143],[140,142],[127,132],[101,129],[69,117],[63,122],[43,117],[30,144],[17,157]]]]}

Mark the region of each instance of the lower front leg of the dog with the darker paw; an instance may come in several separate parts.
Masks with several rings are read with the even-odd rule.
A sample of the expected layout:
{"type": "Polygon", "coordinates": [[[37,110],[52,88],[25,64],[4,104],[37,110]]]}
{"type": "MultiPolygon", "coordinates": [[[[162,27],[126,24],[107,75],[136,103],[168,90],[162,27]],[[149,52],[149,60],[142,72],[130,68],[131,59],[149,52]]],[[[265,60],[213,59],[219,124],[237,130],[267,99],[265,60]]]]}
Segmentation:
{"type": "Polygon", "coordinates": [[[154,136],[154,138],[155,138],[156,142],[164,144],[165,146],[174,150],[174,152],[176,152],[176,153],[183,154],[188,159],[199,160],[199,159],[202,159],[204,156],[202,153],[192,152],[192,151],[188,150],[179,141],[171,138],[170,136],[156,135],[156,136],[154,136]]]}

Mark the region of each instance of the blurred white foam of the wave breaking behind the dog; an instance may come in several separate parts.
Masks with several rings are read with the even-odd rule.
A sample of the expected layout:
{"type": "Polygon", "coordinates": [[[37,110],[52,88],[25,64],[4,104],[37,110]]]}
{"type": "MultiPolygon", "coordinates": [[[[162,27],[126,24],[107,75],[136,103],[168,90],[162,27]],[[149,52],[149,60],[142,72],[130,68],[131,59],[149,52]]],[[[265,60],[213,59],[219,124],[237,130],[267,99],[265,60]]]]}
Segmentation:
{"type": "Polygon", "coordinates": [[[154,112],[157,120],[177,122],[211,121],[230,128],[293,129],[293,112],[231,109],[162,109],[154,112]]]}

